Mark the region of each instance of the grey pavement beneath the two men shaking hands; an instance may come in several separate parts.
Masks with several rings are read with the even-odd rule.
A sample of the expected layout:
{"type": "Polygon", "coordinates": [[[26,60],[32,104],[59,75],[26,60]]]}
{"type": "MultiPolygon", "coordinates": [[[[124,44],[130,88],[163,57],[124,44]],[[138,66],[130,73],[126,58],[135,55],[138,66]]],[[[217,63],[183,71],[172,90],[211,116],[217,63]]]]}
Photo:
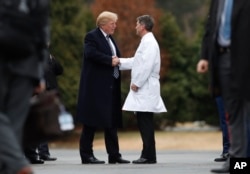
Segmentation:
{"type": "MultiPolygon", "coordinates": [[[[107,164],[105,151],[95,151],[95,156],[106,164],[82,165],[78,149],[51,149],[57,161],[33,165],[35,174],[211,174],[212,168],[222,163],[213,162],[218,151],[157,151],[157,164],[107,164]]],[[[135,160],[139,151],[122,151],[123,158],[135,160]]]]}

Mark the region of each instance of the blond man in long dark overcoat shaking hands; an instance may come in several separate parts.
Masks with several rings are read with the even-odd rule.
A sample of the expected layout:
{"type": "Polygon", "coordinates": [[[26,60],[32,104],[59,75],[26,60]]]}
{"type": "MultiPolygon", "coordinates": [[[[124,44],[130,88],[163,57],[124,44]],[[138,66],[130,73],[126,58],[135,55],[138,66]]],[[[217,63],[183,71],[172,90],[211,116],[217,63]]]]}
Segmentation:
{"type": "Polygon", "coordinates": [[[122,126],[119,49],[111,37],[117,15],[104,11],[97,17],[97,28],[84,40],[84,58],[77,104],[77,118],[83,123],[80,139],[82,163],[102,164],[93,153],[98,128],[104,128],[109,163],[129,163],[119,153],[117,129],[122,126]]]}

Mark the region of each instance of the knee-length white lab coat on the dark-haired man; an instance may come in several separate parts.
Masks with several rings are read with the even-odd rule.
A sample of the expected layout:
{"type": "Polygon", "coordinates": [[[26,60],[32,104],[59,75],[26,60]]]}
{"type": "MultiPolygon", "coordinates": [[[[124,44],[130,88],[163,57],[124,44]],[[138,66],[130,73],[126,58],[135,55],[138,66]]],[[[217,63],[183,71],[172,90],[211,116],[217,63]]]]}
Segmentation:
{"type": "Polygon", "coordinates": [[[145,34],[134,57],[120,58],[120,70],[131,69],[131,84],[139,87],[130,89],[123,105],[126,111],[166,112],[160,96],[160,49],[152,32],[145,34]]]}

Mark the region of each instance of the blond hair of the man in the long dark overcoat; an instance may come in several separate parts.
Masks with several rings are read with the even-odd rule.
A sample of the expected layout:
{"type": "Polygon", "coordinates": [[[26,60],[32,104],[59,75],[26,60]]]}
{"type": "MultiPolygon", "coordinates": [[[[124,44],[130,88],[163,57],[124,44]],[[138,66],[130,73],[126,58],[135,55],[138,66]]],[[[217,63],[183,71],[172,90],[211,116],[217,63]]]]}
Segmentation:
{"type": "Polygon", "coordinates": [[[105,25],[109,21],[117,21],[118,15],[116,13],[110,12],[110,11],[104,11],[99,14],[99,16],[96,19],[96,26],[100,27],[102,25],[105,25]]]}

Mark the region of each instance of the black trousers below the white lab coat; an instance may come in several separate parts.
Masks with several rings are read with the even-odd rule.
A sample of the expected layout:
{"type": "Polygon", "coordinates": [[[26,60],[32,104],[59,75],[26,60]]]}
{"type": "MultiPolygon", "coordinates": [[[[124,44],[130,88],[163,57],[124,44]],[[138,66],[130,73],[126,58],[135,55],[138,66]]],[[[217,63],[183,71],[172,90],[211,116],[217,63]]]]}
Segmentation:
{"type": "Polygon", "coordinates": [[[137,125],[143,142],[141,158],[156,160],[153,113],[137,112],[136,117],[137,125]]]}

